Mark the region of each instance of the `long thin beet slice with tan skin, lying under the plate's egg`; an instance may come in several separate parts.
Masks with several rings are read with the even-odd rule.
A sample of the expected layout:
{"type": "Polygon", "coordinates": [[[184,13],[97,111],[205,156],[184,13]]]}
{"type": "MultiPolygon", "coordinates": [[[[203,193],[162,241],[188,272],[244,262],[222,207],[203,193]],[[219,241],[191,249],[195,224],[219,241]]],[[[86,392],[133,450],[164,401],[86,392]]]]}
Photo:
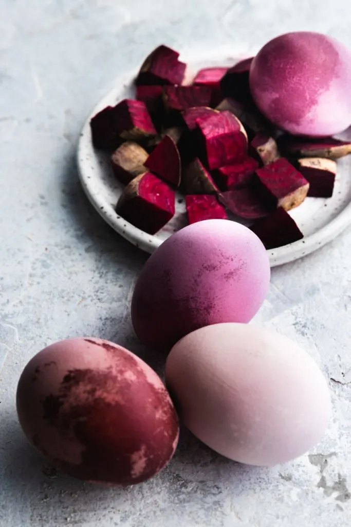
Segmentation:
{"type": "Polygon", "coordinates": [[[332,137],[326,139],[300,139],[292,135],[281,135],[278,147],[283,152],[298,155],[300,158],[338,159],[351,153],[350,141],[339,141],[332,137]]]}

